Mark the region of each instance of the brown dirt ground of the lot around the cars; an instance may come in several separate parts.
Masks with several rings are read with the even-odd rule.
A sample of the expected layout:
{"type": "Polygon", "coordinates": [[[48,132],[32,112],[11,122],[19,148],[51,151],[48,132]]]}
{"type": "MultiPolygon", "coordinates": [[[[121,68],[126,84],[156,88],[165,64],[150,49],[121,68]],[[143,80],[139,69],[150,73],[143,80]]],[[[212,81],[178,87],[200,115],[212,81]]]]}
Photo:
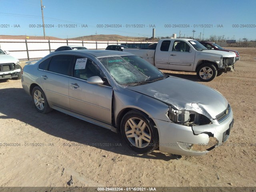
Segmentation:
{"type": "Polygon", "coordinates": [[[71,175],[73,186],[256,186],[256,48],[236,49],[236,70],[212,82],[164,70],[218,90],[234,112],[224,145],[180,160],[136,154],[120,135],[55,110],[40,114],[20,80],[1,80],[0,186],[68,186],[71,175]]]}

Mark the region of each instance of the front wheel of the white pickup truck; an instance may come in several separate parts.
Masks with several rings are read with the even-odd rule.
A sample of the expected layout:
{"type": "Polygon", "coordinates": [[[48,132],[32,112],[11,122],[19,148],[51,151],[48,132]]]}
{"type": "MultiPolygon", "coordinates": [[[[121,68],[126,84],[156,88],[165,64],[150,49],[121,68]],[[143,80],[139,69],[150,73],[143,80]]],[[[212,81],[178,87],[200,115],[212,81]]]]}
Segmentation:
{"type": "Polygon", "coordinates": [[[212,64],[202,64],[196,70],[196,75],[199,80],[209,82],[217,76],[217,70],[212,64]]]}

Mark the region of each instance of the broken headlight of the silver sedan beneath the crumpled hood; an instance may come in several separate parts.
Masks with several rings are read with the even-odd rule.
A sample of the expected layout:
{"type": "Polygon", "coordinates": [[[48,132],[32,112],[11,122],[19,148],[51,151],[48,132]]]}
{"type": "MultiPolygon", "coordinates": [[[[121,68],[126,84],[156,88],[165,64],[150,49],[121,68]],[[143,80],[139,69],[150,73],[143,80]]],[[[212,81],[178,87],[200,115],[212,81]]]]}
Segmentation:
{"type": "Polygon", "coordinates": [[[186,126],[206,125],[211,124],[209,118],[194,111],[175,110],[170,108],[168,111],[168,118],[176,124],[186,126]]]}

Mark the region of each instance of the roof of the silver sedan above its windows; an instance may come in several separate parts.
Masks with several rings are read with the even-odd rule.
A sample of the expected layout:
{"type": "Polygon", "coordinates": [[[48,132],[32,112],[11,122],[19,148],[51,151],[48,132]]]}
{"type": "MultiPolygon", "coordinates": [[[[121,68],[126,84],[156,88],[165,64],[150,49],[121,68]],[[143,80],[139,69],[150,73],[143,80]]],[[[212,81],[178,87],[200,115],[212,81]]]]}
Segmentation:
{"type": "Polygon", "coordinates": [[[127,52],[121,51],[112,51],[112,50],[68,50],[68,51],[58,51],[53,52],[51,55],[58,55],[58,54],[79,54],[83,56],[91,55],[94,57],[107,57],[107,56],[122,56],[122,55],[133,55],[127,52]]]}

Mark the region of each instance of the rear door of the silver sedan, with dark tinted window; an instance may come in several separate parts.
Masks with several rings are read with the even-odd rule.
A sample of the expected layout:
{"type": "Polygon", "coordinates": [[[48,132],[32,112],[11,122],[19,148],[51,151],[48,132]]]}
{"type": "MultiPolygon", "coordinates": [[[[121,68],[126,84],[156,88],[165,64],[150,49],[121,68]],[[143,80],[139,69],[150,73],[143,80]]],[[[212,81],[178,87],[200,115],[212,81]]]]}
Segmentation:
{"type": "Polygon", "coordinates": [[[73,61],[72,55],[56,55],[39,66],[39,69],[44,70],[41,82],[48,102],[66,110],[70,110],[68,79],[73,61]]]}

